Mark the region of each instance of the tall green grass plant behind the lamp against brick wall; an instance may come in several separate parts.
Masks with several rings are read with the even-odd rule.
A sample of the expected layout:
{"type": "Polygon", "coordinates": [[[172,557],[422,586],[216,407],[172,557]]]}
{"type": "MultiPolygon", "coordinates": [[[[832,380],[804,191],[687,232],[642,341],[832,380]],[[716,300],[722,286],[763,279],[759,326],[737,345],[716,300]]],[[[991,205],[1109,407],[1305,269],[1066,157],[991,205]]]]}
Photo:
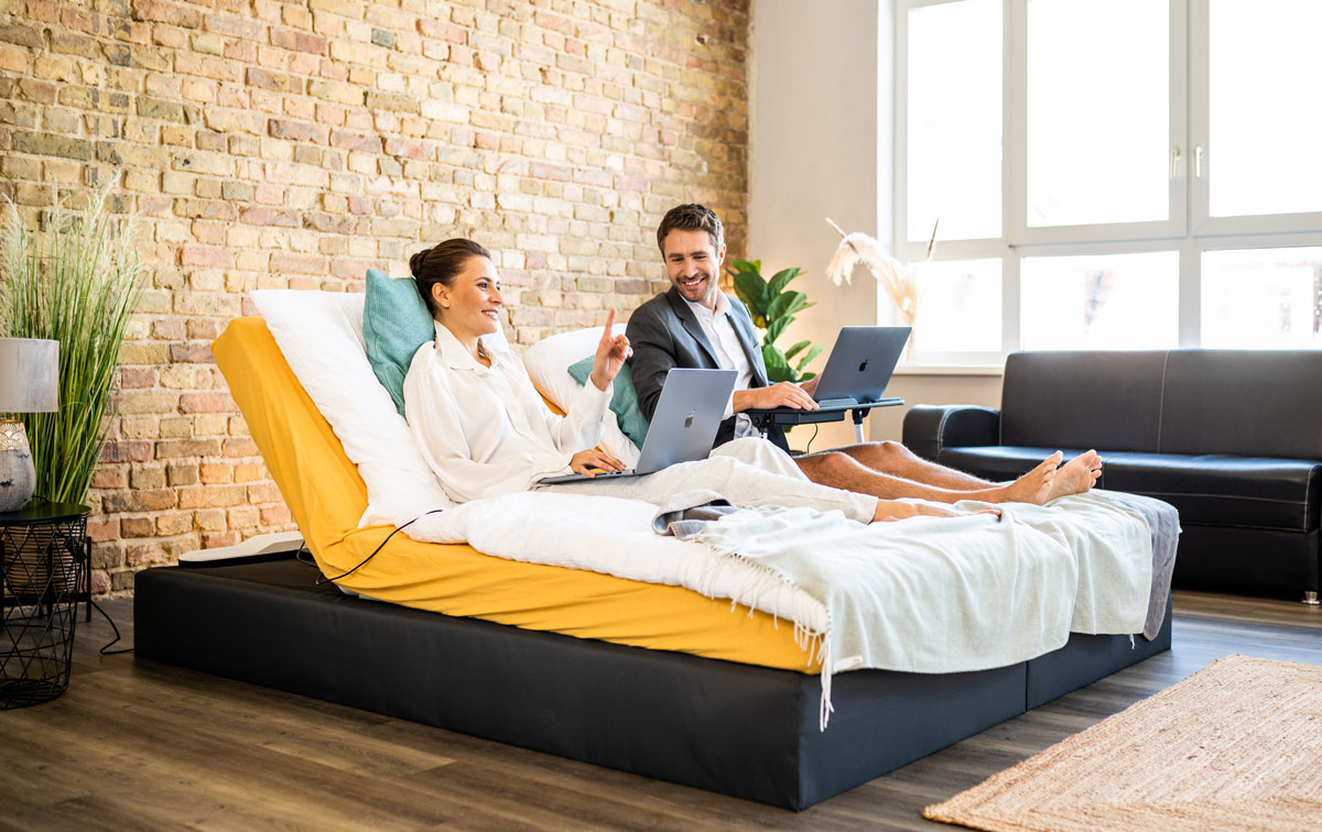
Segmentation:
{"type": "Polygon", "coordinates": [[[37,469],[36,493],[87,499],[110,429],[115,368],[139,297],[136,223],[107,210],[114,180],[86,210],[62,199],[29,228],[0,205],[0,335],[59,342],[59,409],[19,415],[37,469]]]}

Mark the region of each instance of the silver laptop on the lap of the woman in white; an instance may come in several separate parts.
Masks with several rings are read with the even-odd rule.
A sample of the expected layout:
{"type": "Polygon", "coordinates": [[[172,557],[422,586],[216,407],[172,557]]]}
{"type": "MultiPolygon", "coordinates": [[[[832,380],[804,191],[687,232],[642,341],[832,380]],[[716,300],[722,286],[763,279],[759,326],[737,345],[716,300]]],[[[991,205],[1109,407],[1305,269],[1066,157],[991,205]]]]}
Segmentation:
{"type": "Polygon", "coordinates": [[[652,415],[652,427],[642,440],[642,453],[633,468],[623,471],[587,474],[561,474],[543,477],[539,482],[579,482],[583,479],[611,479],[652,474],[677,462],[705,460],[720,429],[726,403],[735,388],[734,370],[685,370],[676,367],[665,376],[661,400],[652,415]]]}

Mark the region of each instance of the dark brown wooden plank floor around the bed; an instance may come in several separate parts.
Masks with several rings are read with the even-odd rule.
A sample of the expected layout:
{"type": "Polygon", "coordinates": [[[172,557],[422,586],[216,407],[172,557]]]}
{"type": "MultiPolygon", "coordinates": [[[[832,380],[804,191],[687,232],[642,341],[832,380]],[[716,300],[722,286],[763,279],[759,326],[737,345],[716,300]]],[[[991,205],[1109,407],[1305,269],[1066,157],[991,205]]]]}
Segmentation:
{"type": "MultiPolygon", "coordinates": [[[[132,643],[131,602],[106,607],[132,643]]],[[[79,622],[69,692],[0,712],[0,829],[933,832],[951,827],[923,820],[923,806],[1214,659],[1322,664],[1322,607],[1178,592],[1170,652],[796,815],[132,655],[102,658],[108,633],[99,617],[79,622]]]]}

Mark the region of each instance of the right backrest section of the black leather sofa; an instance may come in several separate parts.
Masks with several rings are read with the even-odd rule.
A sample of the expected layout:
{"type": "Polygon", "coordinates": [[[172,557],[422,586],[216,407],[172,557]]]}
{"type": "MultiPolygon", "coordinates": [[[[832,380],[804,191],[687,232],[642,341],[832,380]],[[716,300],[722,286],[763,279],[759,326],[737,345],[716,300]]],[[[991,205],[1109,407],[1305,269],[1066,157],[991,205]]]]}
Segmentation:
{"type": "Polygon", "coordinates": [[[1322,460],[1318,413],[1322,350],[1173,350],[1161,444],[1132,450],[1322,460]]]}

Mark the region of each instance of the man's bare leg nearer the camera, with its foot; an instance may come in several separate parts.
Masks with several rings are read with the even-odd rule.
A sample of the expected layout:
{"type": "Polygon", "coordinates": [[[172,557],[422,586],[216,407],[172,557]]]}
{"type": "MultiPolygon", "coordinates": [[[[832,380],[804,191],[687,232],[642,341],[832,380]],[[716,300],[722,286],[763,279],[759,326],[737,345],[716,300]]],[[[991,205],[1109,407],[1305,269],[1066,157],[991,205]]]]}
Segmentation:
{"type": "Polygon", "coordinates": [[[863,465],[853,456],[841,452],[824,452],[795,457],[804,475],[810,481],[871,494],[883,501],[900,498],[928,499],[939,503],[954,503],[961,499],[978,499],[988,503],[1034,503],[1040,506],[1050,494],[1060,465],[1060,453],[1047,457],[1031,471],[1014,482],[1005,485],[986,483],[982,489],[947,489],[924,482],[916,482],[875,470],[863,465]]]}

